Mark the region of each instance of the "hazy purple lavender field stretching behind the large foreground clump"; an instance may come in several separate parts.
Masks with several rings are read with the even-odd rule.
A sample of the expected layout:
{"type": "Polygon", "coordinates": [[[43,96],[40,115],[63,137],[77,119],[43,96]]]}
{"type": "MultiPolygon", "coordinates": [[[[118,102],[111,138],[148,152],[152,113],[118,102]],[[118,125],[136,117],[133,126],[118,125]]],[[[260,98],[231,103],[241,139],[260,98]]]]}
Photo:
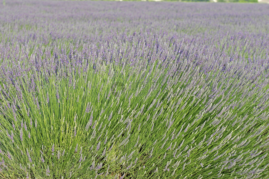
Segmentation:
{"type": "Polygon", "coordinates": [[[11,0],[0,8],[0,62],[9,61],[16,45],[32,53],[39,45],[52,50],[54,42],[58,48],[65,43],[69,51],[77,41],[79,49],[88,42],[129,46],[141,36],[161,36],[171,47],[184,39],[197,48],[238,52],[253,61],[255,55],[266,55],[269,42],[267,4],[11,0]]]}

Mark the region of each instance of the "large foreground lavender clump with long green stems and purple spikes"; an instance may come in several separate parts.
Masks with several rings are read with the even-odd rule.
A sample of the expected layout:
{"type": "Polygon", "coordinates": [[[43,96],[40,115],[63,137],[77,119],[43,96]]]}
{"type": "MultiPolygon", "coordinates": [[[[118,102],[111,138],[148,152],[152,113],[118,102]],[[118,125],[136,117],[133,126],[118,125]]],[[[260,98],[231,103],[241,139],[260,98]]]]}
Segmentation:
{"type": "Polygon", "coordinates": [[[268,177],[269,58],[137,44],[39,49],[21,57],[30,70],[3,69],[2,177],[268,177]]]}

